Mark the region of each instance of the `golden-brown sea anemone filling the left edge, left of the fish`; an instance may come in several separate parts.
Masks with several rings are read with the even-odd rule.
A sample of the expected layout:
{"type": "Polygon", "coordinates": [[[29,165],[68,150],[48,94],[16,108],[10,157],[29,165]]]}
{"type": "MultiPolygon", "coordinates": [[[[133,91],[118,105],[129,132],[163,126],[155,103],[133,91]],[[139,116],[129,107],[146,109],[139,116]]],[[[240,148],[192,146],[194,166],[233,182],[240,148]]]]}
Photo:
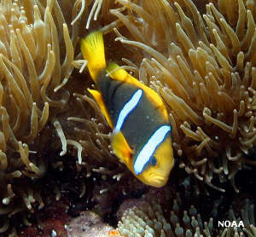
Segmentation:
{"type": "MultiPolygon", "coordinates": [[[[78,8],[79,3],[75,3],[73,18],[78,8]]],[[[46,124],[55,124],[56,114],[67,106],[69,93],[61,87],[73,72],[79,20],[68,28],[57,1],[4,0],[0,2],[0,22],[3,233],[11,217],[20,211],[33,212],[44,206],[36,184],[48,164],[43,150],[49,147],[49,132],[46,137],[44,132],[46,124]]],[[[22,219],[28,223],[26,216],[22,219]]]]}

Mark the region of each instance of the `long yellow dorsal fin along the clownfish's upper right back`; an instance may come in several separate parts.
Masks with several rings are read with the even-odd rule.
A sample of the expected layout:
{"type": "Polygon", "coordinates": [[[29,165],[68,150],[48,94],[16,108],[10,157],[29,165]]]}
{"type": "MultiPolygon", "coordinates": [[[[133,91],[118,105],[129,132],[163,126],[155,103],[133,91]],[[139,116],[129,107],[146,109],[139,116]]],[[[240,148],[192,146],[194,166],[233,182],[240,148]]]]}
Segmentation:
{"type": "Polygon", "coordinates": [[[142,84],[137,78],[133,78],[131,74],[125,71],[125,69],[121,68],[116,63],[109,63],[106,71],[109,74],[109,77],[113,78],[114,80],[122,81],[128,84],[132,84],[137,88],[140,88],[144,91],[144,93],[148,96],[148,98],[153,101],[154,106],[157,107],[161,113],[165,116],[165,119],[168,119],[168,114],[166,112],[166,107],[160,98],[160,95],[157,94],[154,90],[150,87],[142,84]]]}

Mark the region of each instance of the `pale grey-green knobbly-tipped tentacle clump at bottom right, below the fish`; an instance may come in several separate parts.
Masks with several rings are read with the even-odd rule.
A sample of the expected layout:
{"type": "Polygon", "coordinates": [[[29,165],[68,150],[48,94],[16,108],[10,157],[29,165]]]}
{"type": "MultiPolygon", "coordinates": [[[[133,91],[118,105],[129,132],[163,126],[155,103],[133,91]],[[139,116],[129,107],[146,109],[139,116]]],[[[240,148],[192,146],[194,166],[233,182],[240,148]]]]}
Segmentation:
{"type": "MultiPolygon", "coordinates": [[[[132,208],[123,212],[119,220],[119,236],[255,236],[256,227],[254,222],[253,205],[246,200],[241,208],[241,219],[235,217],[234,211],[230,209],[230,218],[226,220],[242,220],[244,228],[217,228],[216,219],[211,217],[205,221],[205,212],[199,213],[194,205],[189,210],[184,209],[184,199],[177,194],[172,200],[172,210],[169,217],[166,217],[166,210],[161,207],[159,201],[150,198],[150,201],[130,201],[132,208]]],[[[127,201],[126,201],[127,202],[127,201]]],[[[125,206],[131,206],[123,204],[125,206]]],[[[122,206],[122,205],[121,205],[122,206]]],[[[121,207],[120,207],[121,208],[121,207]]]]}

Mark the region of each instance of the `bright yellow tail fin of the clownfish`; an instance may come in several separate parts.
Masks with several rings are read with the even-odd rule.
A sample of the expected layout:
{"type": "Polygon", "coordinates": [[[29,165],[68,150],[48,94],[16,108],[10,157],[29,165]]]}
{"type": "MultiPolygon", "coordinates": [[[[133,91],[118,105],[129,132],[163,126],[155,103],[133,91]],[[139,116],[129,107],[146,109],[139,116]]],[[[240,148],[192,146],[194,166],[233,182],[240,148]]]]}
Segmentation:
{"type": "Polygon", "coordinates": [[[91,32],[81,41],[81,51],[91,78],[96,81],[97,74],[106,68],[105,51],[102,32],[91,32]]]}

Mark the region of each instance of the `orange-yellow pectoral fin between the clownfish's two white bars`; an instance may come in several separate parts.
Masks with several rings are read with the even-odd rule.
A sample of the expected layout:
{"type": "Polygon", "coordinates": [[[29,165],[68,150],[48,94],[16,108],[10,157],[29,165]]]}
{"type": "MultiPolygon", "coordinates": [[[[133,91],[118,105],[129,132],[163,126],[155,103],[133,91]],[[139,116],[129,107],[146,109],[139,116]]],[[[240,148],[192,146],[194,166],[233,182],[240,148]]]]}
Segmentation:
{"type": "Polygon", "coordinates": [[[125,163],[126,165],[131,163],[132,150],[121,131],[113,133],[111,147],[113,148],[113,153],[119,157],[122,163],[125,163]]]}

